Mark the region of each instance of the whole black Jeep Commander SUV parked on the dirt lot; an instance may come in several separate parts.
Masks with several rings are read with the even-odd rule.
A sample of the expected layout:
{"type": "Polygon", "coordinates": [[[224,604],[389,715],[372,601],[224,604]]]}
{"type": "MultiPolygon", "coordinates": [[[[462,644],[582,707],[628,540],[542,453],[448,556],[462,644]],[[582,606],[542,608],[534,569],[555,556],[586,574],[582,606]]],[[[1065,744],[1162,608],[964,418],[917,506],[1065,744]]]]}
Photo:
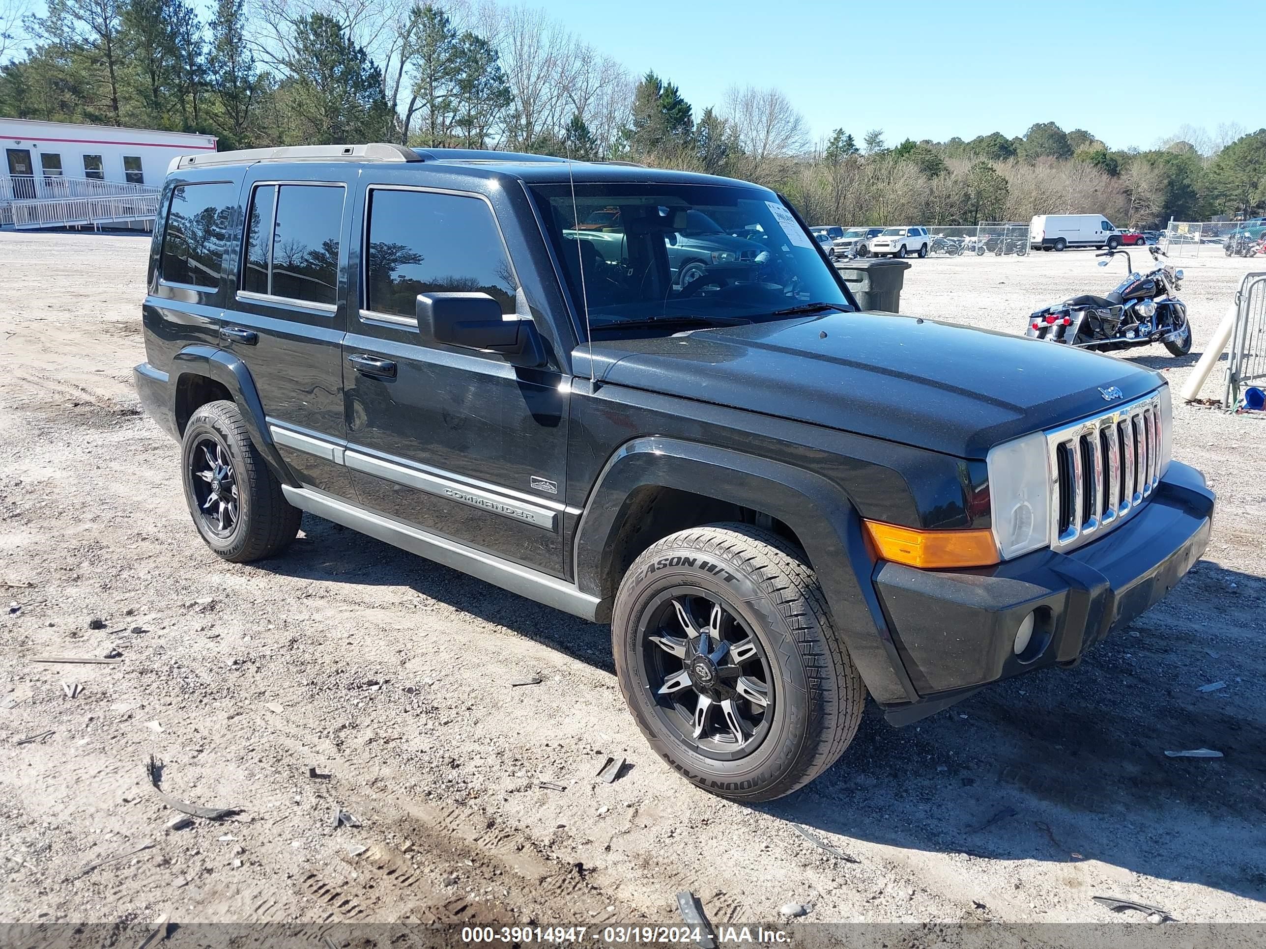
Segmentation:
{"type": "Polygon", "coordinates": [[[656,752],[738,800],[822,773],[867,692],[904,724],[1076,664],[1209,538],[1160,375],[860,313],[741,181],[181,158],[144,335],[215,553],[275,554],[308,511],[610,623],[656,752]]]}

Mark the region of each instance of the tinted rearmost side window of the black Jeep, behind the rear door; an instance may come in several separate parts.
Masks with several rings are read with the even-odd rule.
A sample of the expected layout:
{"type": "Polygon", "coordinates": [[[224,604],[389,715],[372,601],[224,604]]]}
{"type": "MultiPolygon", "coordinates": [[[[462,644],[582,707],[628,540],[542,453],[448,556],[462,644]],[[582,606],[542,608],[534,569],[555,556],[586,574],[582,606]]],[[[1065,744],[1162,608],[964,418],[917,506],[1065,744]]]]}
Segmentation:
{"type": "Polygon", "coordinates": [[[237,187],[229,183],[172,189],[160,272],[172,283],[216,287],[237,187]]]}

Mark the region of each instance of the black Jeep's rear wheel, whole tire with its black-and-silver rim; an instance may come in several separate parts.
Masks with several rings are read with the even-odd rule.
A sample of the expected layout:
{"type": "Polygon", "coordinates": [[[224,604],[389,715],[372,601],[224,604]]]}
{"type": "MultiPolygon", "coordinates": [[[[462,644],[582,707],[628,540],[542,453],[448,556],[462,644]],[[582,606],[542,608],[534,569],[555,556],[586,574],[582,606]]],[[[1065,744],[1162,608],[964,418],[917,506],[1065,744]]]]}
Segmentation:
{"type": "Polygon", "coordinates": [[[295,539],[303,512],[281,493],[237,405],[200,406],[185,426],[180,454],[194,526],[219,557],[248,563],[280,553],[295,539]]]}

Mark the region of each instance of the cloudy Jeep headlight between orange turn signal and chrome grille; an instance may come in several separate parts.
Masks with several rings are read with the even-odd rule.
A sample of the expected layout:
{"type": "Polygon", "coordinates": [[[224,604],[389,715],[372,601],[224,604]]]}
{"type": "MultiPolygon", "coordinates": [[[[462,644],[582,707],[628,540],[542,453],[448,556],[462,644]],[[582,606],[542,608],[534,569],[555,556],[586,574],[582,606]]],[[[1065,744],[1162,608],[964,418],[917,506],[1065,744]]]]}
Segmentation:
{"type": "Polygon", "coordinates": [[[1051,545],[1051,468],[1046,435],[1036,431],[989,449],[989,511],[1006,561],[1051,545]]]}

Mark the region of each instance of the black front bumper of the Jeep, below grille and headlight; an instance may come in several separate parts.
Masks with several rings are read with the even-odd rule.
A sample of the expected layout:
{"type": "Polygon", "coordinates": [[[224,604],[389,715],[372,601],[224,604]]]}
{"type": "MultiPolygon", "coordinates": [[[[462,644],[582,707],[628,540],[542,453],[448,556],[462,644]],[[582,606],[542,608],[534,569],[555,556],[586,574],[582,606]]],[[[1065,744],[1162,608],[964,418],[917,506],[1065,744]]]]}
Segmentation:
{"type": "Polygon", "coordinates": [[[889,720],[914,721],[990,682],[1075,666],[1200,559],[1213,509],[1200,472],[1174,462],[1138,514],[1070,553],[1038,550],[974,571],[881,562],[875,590],[920,698],[889,707],[889,720]],[[1031,612],[1033,645],[1017,657],[1015,633],[1031,612]]]}

